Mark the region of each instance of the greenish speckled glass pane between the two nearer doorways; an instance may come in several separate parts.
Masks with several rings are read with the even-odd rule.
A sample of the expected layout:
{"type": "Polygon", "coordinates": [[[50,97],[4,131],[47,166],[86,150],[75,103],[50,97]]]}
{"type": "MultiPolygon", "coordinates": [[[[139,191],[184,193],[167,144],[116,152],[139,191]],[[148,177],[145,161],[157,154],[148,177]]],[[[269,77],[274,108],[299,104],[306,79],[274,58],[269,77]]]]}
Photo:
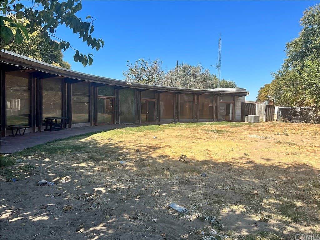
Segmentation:
{"type": "Polygon", "coordinates": [[[120,123],[134,123],[134,95],[135,90],[124,88],[119,90],[120,99],[120,123]]]}

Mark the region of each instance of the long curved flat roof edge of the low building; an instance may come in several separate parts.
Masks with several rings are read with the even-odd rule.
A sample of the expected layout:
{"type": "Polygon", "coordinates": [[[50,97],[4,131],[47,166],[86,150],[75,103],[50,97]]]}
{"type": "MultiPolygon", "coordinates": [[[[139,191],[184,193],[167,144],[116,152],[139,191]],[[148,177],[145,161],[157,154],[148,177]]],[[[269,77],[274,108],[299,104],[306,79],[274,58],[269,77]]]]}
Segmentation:
{"type": "Polygon", "coordinates": [[[20,54],[16,54],[16,53],[4,51],[4,50],[1,51],[0,60],[1,62],[12,64],[18,67],[23,67],[28,70],[37,70],[44,73],[54,74],[57,76],[72,78],[76,80],[84,80],[88,82],[102,83],[102,84],[122,86],[122,87],[131,87],[131,88],[138,88],[138,89],[167,91],[167,92],[233,94],[238,96],[249,95],[249,92],[245,91],[244,88],[195,89],[195,88],[168,87],[168,86],[127,82],[123,80],[117,80],[117,79],[112,79],[108,77],[101,77],[101,76],[77,72],[74,70],[69,70],[66,68],[57,67],[52,64],[41,62],[26,56],[22,56],[20,54]]]}

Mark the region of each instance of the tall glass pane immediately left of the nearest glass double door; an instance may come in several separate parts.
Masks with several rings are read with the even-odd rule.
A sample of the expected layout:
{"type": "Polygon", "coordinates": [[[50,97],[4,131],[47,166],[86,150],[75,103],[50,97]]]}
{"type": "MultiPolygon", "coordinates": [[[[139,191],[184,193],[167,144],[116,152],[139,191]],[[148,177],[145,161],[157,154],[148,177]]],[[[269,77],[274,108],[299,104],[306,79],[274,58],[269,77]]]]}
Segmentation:
{"type": "Polygon", "coordinates": [[[88,123],[90,108],[90,84],[72,84],[72,123],[88,123]]]}

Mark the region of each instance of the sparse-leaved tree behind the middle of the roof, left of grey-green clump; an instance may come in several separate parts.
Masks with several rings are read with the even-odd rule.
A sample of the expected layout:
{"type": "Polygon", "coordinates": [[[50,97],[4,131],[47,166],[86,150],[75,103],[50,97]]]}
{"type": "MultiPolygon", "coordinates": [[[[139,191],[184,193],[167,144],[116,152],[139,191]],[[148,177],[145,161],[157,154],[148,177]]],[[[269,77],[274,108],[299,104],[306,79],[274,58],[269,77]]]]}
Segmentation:
{"type": "Polygon", "coordinates": [[[128,61],[128,70],[124,71],[123,75],[125,80],[129,82],[160,85],[164,79],[161,64],[162,62],[158,59],[153,62],[139,59],[133,65],[128,61]]]}

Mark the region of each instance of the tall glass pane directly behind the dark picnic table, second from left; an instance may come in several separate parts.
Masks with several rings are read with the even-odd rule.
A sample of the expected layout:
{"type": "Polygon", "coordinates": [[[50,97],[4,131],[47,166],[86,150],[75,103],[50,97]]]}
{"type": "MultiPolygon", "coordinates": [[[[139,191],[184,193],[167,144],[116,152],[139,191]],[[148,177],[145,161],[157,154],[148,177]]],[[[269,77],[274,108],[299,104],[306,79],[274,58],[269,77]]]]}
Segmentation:
{"type": "Polygon", "coordinates": [[[42,80],[42,117],[61,117],[62,81],[59,78],[42,80]]]}

